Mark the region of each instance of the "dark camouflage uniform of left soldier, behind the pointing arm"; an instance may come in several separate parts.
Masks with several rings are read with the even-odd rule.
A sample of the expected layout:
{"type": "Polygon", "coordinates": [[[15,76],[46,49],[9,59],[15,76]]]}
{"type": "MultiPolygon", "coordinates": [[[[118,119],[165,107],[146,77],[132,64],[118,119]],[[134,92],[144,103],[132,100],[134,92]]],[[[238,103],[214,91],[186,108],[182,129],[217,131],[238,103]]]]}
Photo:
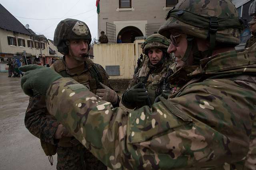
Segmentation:
{"type": "MultiPolygon", "coordinates": [[[[102,78],[101,82],[110,87],[108,75],[102,66],[94,64],[90,59],[87,59],[85,63],[87,67],[82,71],[81,68],[68,69],[63,59],[56,61],[51,67],[60,75],[71,77],[88,87],[90,91],[94,93],[97,88],[101,88],[98,87],[99,83],[97,81],[99,80],[95,79],[96,76],[91,76],[94,74],[92,70],[96,68],[102,78]]],[[[116,106],[118,106],[118,104],[116,104],[116,106]]],[[[84,159],[86,169],[106,169],[106,166],[94,157],[91,152],[85,149],[74,137],[62,137],[60,140],[54,139],[58,124],[58,121],[48,113],[45,98],[43,96],[36,94],[34,97],[30,98],[25,115],[26,128],[28,128],[30,133],[40,138],[43,149],[46,149],[47,147],[52,149],[47,150],[47,152],[54,152],[54,149],[57,149],[57,169],[84,169],[84,164],[82,164],[81,159],[84,159]],[[55,148],[54,145],[57,147],[55,148]]]]}

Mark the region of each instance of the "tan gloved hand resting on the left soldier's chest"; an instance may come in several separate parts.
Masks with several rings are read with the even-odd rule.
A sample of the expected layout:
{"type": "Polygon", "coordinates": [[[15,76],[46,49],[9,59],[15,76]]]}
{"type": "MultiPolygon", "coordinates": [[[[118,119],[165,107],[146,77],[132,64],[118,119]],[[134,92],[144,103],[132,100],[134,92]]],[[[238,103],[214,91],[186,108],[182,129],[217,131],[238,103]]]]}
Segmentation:
{"type": "Polygon", "coordinates": [[[103,100],[110,102],[112,104],[116,104],[118,101],[118,96],[114,90],[109,88],[108,86],[105,86],[100,82],[100,85],[102,86],[103,89],[97,89],[96,90],[96,95],[101,97],[103,100]]]}

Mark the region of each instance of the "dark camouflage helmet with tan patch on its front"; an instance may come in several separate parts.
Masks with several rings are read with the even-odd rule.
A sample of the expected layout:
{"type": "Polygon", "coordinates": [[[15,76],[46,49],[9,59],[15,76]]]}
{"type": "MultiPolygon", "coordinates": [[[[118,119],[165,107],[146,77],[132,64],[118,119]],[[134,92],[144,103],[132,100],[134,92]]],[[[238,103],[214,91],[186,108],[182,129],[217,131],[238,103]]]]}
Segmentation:
{"type": "Polygon", "coordinates": [[[88,41],[88,51],[92,36],[86,23],[75,19],[65,19],[58,23],[54,32],[54,45],[63,55],[68,54],[70,40],[84,39],[88,41]]]}

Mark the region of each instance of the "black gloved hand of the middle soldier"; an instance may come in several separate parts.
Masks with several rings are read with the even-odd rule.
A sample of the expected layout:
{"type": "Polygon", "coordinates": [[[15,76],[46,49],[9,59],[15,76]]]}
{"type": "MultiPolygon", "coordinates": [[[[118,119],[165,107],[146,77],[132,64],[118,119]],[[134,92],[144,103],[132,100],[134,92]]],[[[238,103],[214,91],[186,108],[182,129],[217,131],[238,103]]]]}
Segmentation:
{"type": "Polygon", "coordinates": [[[125,98],[130,102],[144,102],[148,99],[148,92],[145,88],[131,88],[125,93],[125,98]]]}

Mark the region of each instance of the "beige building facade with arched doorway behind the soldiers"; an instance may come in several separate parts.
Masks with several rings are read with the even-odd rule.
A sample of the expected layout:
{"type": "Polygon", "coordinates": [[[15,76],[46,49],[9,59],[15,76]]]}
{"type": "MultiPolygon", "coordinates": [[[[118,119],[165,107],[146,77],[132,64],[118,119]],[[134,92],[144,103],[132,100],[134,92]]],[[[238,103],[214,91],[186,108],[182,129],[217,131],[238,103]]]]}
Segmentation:
{"type": "Polygon", "coordinates": [[[135,37],[151,35],[164,23],[168,10],[178,0],[102,0],[98,33],[104,31],[109,43],[133,43],[135,37]]]}

